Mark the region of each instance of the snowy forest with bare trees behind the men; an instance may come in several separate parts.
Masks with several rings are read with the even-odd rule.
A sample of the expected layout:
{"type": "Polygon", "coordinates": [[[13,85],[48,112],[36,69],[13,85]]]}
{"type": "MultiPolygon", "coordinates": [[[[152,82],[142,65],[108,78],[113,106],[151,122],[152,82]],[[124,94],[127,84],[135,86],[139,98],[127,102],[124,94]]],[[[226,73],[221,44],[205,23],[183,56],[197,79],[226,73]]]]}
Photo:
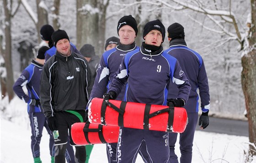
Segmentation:
{"type": "MultiPolygon", "coordinates": [[[[247,110],[249,139],[256,144],[255,13],[254,0],[0,0],[2,98],[14,97],[14,81],[43,45],[39,31],[44,24],[65,30],[77,49],[92,44],[101,56],[106,39],[118,36],[123,15],[138,22],[138,46],[146,22],[160,19],[166,32],[178,22],[185,28],[188,47],[203,57],[210,112],[243,119],[247,110]]],[[[169,46],[167,36],[163,46],[169,46]]]]}

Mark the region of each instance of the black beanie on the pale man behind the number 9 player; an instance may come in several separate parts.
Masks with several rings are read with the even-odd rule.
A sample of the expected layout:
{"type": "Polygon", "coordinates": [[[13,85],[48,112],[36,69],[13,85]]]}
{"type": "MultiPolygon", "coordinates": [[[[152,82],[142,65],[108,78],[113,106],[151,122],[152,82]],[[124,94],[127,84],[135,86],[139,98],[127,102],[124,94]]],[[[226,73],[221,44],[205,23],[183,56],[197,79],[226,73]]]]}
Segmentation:
{"type": "MultiPolygon", "coordinates": [[[[129,25],[133,28],[133,30],[135,31],[136,33],[136,36],[137,36],[137,33],[138,33],[138,28],[137,28],[137,21],[133,18],[132,15],[128,15],[128,16],[123,16],[119,21],[118,21],[118,24],[117,24],[117,34],[120,30],[120,28],[124,25],[129,25]]],[[[118,34],[119,36],[119,34],[118,34]]]]}

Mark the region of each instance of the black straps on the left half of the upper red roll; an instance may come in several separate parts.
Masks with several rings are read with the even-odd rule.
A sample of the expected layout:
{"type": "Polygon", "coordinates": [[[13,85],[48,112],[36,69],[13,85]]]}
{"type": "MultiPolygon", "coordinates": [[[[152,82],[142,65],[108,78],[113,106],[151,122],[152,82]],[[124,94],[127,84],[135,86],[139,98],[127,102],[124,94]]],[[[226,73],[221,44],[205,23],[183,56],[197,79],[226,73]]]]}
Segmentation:
{"type": "Polygon", "coordinates": [[[118,108],[117,106],[115,106],[111,102],[109,102],[107,100],[103,100],[102,106],[101,106],[101,117],[102,117],[101,124],[106,125],[105,114],[106,114],[107,106],[109,106],[112,109],[114,109],[115,111],[119,112],[119,115],[118,115],[118,126],[119,127],[123,127],[123,114],[124,114],[124,110],[125,110],[126,104],[127,104],[127,102],[121,102],[120,108],[118,108]]]}

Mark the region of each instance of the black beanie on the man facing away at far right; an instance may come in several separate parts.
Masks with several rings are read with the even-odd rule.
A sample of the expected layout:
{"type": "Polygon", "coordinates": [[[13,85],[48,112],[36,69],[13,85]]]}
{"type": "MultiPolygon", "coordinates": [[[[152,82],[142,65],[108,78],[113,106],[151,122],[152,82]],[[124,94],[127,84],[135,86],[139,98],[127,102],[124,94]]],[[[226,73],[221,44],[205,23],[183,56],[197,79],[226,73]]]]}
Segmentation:
{"type": "Polygon", "coordinates": [[[167,35],[169,38],[174,39],[175,37],[185,38],[184,27],[179,23],[171,24],[167,29],[167,35]]]}

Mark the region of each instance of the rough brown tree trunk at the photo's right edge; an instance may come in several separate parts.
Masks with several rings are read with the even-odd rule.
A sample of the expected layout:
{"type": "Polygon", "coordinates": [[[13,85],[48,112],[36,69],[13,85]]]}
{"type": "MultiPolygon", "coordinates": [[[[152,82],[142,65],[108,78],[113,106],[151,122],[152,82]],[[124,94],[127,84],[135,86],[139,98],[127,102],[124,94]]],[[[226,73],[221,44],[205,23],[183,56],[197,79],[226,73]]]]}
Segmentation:
{"type": "MultiPolygon", "coordinates": [[[[256,1],[251,0],[251,28],[249,49],[255,49],[256,42],[256,1]]],[[[251,50],[242,57],[243,71],[241,74],[242,88],[245,95],[245,107],[249,123],[249,140],[256,145],[256,50],[251,50]]],[[[249,154],[256,155],[256,149],[250,145],[249,154]]]]}

